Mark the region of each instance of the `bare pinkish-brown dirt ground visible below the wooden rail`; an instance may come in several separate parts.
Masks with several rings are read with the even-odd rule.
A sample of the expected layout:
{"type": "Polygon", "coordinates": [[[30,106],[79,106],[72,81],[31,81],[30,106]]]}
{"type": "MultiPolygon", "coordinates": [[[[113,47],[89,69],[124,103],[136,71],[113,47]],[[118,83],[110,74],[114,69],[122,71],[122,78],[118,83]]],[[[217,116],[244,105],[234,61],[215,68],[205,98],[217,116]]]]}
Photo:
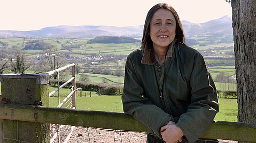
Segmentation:
{"type": "MultiPolygon", "coordinates": [[[[226,142],[237,143],[237,141],[231,141],[231,140],[219,140],[219,141],[224,143],[226,142]]],[[[75,127],[68,142],[72,142],[72,143],[75,143],[75,142],[79,142],[79,143],[88,143],[88,142],[140,143],[140,142],[146,142],[146,133],[75,127]]]]}

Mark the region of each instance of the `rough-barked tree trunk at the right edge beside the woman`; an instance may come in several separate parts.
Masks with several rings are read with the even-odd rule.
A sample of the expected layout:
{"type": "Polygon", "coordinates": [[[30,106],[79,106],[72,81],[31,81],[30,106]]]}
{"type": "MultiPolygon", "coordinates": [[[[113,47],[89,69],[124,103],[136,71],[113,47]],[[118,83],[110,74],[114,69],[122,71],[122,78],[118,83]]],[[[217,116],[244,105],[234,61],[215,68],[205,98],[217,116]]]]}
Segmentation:
{"type": "Polygon", "coordinates": [[[256,123],[256,3],[232,0],[238,122],[256,123]]]}

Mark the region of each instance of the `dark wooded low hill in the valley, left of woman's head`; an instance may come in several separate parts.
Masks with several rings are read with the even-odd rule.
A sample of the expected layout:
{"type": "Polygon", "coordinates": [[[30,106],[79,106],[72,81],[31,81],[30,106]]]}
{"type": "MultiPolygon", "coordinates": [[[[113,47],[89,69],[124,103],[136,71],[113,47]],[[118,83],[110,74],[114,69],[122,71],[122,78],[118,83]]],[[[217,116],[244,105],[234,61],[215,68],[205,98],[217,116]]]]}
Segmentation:
{"type": "Polygon", "coordinates": [[[92,40],[87,41],[88,44],[91,43],[134,43],[134,42],[141,42],[141,40],[136,40],[131,37],[117,37],[117,36],[97,36],[92,40]]]}

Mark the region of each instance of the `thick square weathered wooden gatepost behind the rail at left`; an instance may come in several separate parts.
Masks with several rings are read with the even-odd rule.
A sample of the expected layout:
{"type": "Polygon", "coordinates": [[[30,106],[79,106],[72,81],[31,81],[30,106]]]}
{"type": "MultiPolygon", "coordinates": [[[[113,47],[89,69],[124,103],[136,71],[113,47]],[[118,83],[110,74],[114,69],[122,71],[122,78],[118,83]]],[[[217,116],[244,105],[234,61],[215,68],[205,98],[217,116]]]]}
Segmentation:
{"type": "MultiPolygon", "coordinates": [[[[0,96],[2,103],[35,105],[41,101],[44,106],[49,106],[48,74],[0,75],[0,81],[2,82],[2,96],[0,96]]],[[[34,122],[0,120],[0,125],[2,125],[0,142],[37,142],[37,140],[43,142],[44,138],[46,142],[49,142],[49,124],[42,124],[38,121],[35,124],[35,118],[33,120],[34,122]]]]}

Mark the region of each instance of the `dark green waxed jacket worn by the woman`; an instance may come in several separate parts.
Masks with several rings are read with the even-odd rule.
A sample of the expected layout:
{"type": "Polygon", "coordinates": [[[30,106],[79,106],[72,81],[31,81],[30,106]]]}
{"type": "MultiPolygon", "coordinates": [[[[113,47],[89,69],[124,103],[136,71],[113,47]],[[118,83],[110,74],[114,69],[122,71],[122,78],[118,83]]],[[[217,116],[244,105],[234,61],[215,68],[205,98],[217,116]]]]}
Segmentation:
{"type": "Polygon", "coordinates": [[[195,142],[219,110],[217,90],[198,51],[174,44],[167,55],[160,66],[144,64],[140,49],[127,56],[123,110],[156,134],[148,134],[147,142],[162,142],[160,128],[169,121],[195,142]]]}

